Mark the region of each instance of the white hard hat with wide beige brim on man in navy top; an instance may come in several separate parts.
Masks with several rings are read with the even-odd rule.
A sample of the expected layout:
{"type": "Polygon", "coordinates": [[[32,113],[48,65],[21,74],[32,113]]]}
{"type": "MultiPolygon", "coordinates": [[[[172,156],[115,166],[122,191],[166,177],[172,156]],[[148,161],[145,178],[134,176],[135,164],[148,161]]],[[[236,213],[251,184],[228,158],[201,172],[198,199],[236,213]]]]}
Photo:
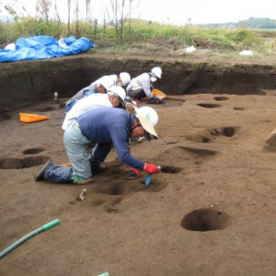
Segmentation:
{"type": "Polygon", "coordinates": [[[155,126],[158,122],[157,112],[149,106],[143,106],[141,108],[135,108],[135,115],[144,129],[145,139],[150,141],[150,135],[152,135],[155,139],[158,139],[158,135],[155,131],[155,126]]]}

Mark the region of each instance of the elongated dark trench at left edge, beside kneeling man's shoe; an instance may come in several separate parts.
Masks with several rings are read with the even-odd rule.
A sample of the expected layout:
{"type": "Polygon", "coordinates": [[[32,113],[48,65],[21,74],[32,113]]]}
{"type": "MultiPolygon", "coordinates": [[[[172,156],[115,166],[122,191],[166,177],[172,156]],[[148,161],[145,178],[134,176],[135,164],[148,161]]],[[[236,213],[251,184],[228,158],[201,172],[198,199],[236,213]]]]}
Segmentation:
{"type": "Polygon", "coordinates": [[[30,168],[45,164],[49,160],[48,156],[30,156],[24,158],[1,158],[0,168],[30,168]]]}

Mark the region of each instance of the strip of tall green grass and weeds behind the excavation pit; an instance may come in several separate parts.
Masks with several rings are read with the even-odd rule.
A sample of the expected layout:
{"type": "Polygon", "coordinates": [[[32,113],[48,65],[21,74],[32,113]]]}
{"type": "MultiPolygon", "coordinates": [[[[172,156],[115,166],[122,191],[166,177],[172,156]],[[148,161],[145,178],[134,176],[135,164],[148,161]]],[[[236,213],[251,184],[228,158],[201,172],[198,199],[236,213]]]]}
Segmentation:
{"type": "Polygon", "coordinates": [[[95,23],[71,23],[68,33],[66,23],[43,21],[41,19],[16,18],[12,22],[0,21],[0,44],[16,42],[19,37],[48,35],[60,37],[88,37],[101,50],[152,50],[165,52],[195,46],[201,50],[211,50],[221,54],[254,50],[262,55],[275,55],[275,32],[256,31],[251,28],[198,28],[195,26],[161,25],[141,20],[124,23],[122,39],[117,35],[115,26],[95,23]],[[265,34],[265,35],[264,35],[265,34]]]}

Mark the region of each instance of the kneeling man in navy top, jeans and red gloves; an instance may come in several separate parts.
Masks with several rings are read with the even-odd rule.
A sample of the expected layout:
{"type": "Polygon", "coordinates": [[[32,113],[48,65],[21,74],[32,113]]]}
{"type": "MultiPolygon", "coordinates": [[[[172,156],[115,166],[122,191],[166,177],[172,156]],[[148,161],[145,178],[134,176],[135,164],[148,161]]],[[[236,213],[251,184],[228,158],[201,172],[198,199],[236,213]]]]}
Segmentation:
{"type": "Polygon", "coordinates": [[[147,141],[152,137],[158,139],[154,128],[158,121],[157,112],[148,106],[137,108],[131,103],[127,103],[127,110],[96,108],[74,119],[63,135],[63,144],[72,167],[55,165],[50,159],[34,175],[34,179],[88,184],[94,179],[92,173],[105,169],[101,163],[112,144],[124,164],[148,173],[157,173],[159,169],[155,164],[135,158],[128,150],[130,137],[144,135],[147,141]],[[96,146],[88,154],[91,142],[96,146]]]}

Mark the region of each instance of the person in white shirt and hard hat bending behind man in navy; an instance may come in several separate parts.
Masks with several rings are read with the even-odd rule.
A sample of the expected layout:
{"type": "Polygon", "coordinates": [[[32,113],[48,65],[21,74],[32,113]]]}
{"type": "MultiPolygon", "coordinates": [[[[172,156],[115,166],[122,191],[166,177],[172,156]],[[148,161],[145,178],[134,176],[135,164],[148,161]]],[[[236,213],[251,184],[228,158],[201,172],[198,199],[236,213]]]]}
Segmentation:
{"type": "Polygon", "coordinates": [[[67,130],[73,119],[79,117],[88,110],[108,106],[110,108],[123,108],[126,91],[120,86],[112,86],[108,89],[107,94],[92,94],[88,97],[79,99],[77,103],[67,112],[63,121],[62,129],[67,130]]]}

